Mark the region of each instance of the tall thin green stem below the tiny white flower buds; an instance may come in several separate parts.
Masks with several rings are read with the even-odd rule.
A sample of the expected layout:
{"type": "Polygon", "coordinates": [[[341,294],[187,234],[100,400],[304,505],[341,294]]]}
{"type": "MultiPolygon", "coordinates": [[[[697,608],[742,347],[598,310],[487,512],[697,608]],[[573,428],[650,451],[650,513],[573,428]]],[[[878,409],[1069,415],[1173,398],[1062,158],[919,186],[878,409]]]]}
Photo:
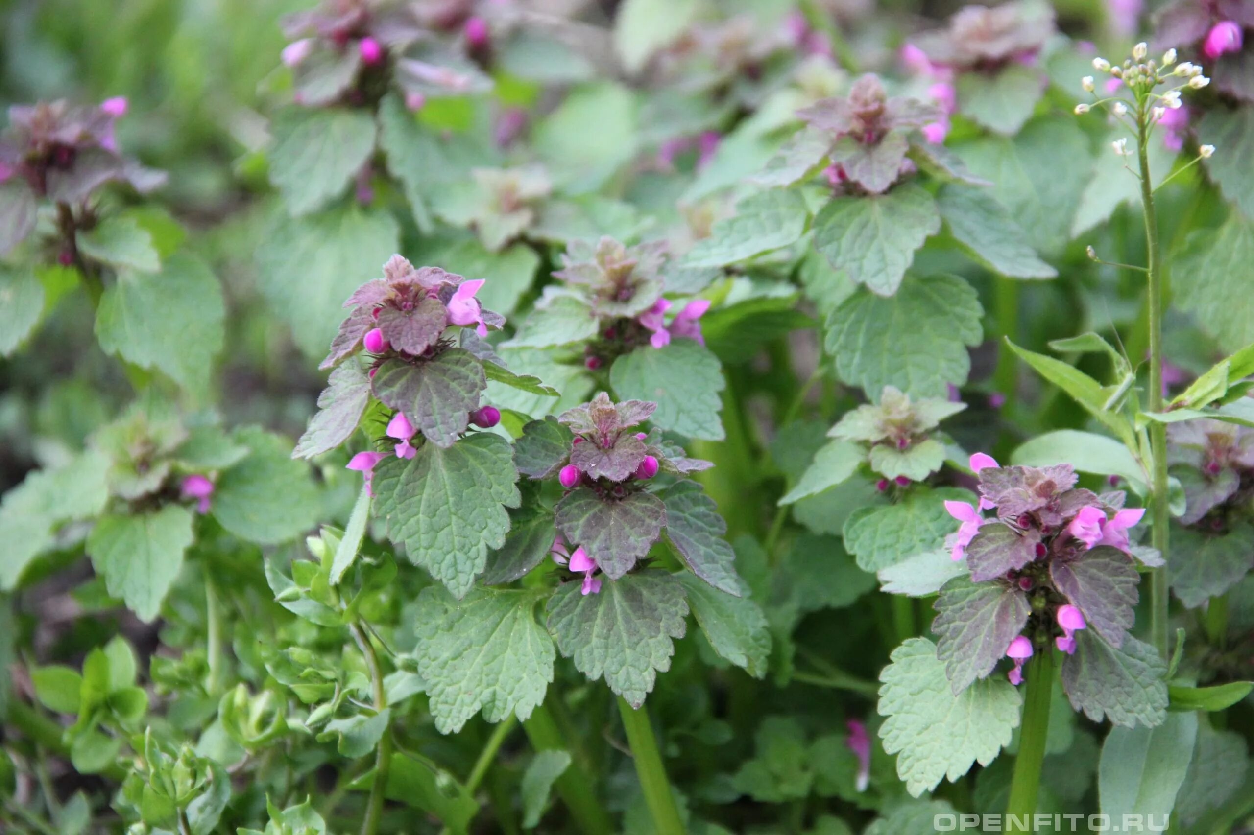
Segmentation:
{"type": "MultiPolygon", "coordinates": [[[[1154,211],[1154,183],[1150,181],[1149,158],[1149,104],[1142,102],[1137,124],[1137,159],[1141,165],[1141,208],[1145,213],[1146,275],[1149,276],[1149,336],[1150,336],[1150,391],[1146,411],[1162,411],[1162,252],[1159,243],[1159,218],[1154,211]]],[[[1171,513],[1167,496],[1167,428],[1151,421],[1150,451],[1154,455],[1154,528],[1151,542],[1167,558],[1171,513]]],[[[1154,646],[1164,658],[1167,656],[1167,567],[1155,568],[1150,574],[1150,633],[1154,646]]]]}

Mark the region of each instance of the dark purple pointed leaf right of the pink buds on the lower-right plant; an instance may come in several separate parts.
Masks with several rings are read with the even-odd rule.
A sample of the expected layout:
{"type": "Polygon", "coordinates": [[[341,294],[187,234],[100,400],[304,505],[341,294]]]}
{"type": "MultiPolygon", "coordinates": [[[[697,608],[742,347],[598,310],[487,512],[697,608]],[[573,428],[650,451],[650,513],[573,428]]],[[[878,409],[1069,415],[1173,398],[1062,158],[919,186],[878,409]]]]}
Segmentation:
{"type": "Polygon", "coordinates": [[[1076,559],[1055,559],[1050,577],[1071,604],[1106,642],[1124,646],[1136,621],[1136,584],[1140,574],[1132,558],[1109,545],[1080,553],[1076,559]]]}

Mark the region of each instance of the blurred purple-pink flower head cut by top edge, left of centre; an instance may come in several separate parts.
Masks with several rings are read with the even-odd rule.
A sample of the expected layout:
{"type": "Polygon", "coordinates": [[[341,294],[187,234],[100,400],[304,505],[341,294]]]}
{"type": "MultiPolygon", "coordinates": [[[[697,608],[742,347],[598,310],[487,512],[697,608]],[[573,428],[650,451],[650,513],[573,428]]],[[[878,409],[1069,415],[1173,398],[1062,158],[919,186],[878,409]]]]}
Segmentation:
{"type": "Polygon", "coordinates": [[[487,48],[488,24],[448,4],[375,4],[326,0],[283,20],[293,39],[283,64],[293,74],[295,100],[307,107],[372,104],[389,76],[410,109],[428,95],[490,88],[469,58],[487,48]]]}

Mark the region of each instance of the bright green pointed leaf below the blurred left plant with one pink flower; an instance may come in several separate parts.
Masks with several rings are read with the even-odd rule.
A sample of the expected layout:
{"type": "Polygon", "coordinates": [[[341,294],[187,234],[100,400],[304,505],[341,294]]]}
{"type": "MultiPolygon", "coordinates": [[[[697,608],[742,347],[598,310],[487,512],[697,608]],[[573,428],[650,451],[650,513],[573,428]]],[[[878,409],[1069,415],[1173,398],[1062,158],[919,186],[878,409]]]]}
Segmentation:
{"type": "Polygon", "coordinates": [[[169,504],[132,517],[102,517],[88,535],[87,552],[109,594],[122,598],[140,621],[150,623],[192,540],[191,512],[169,504]]]}

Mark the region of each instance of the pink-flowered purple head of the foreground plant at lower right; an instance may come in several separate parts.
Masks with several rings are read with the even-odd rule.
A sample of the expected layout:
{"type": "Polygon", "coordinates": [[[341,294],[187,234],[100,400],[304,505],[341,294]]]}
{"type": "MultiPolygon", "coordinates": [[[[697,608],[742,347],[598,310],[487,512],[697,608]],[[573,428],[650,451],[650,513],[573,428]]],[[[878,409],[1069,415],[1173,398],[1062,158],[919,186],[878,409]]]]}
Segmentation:
{"type": "Polygon", "coordinates": [[[961,523],[947,545],[954,560],[967,558],[972,580],[998,583],[1028,601],[1032,616],[1026,634],[1006,648],[1014,662],[1009,680],[1017,685],[1023,662],[1033,654],[1033,637],[1052,637],[1058,649],[1071,654],[1075,633],[1086,628],[1087,619],[1116,606],[1102,597],[1100,583],[1075,578],[1101,570],[1130,572],[1135,578],[1127,532],[1145,510],[1125,509],[1121,491],[1099,495],[1075,486],[1070,464],[999,466],[977,453],[971,469],[979,478],[979,505],[944,503],[961,523]],[[986,510],[994,514],[986,517],[986,510]]]}

